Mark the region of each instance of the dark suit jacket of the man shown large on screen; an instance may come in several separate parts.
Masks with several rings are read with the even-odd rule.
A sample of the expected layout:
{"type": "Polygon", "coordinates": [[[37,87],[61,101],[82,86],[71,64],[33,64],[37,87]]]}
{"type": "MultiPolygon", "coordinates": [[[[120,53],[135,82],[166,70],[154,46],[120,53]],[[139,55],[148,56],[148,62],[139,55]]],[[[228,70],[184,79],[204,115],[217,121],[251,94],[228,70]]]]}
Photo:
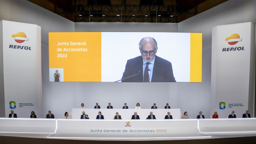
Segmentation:
{"type": "MultiPolygon", "coordinates": [[[[143,59],[141,56],[127,60],[122,78],[135,74],[138,75],[123,79],[122,82],[143,82],[143,59]]],[[[155,56],[151,82],[176,82],[173,76],[172,63],[155,56]]]]}

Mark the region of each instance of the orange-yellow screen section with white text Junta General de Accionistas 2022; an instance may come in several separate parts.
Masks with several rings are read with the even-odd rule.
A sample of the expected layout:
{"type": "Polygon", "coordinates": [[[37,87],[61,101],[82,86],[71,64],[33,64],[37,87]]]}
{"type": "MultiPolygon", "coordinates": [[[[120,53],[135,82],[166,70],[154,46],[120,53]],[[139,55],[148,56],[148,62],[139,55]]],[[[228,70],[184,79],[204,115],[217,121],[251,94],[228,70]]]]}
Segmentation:
{"type": "Polygon", "coordinates": [[[49,68],[63,68],[64,82],[101,82],[101,33],[49,33],[49,68]],[[69,45],[57,45],[59,42],[69,45]],[[86,45],[70,45],[70,42],[86,42],[86,45]],[[62,51],[57,51],[58,48],[62,51]],[[64,48],[87,51],[67,52],[64,48]],[[58,54],[64,57],[67,54],[67,58],[58,58],[58,54]]]}

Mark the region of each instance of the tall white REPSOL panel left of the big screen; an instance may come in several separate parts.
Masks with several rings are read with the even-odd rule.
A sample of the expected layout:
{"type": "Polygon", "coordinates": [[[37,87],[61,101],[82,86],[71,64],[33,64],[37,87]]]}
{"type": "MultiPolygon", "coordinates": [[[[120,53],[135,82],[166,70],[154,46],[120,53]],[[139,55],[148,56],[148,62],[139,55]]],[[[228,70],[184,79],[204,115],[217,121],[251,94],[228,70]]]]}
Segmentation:
{"type": "Polygon", "coordinates": [[[41,27],[2,20],[5,116],[38,113],[42,97],[41,27]],[[39,87],[39,88],[38,88],[39,87]]]}

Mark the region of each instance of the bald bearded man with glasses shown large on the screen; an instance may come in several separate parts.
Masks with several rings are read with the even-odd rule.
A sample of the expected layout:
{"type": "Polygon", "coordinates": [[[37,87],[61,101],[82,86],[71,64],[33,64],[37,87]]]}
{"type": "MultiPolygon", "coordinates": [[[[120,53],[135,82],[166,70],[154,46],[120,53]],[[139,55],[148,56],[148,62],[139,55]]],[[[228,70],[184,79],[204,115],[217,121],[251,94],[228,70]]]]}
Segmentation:
{"type": "Polygon", "coordinates": [[[176,82],[172,63],[156,56],[158,47],[154,38],[142,38],[139,50],[141,56],[127,60],[122,82],[176,82]]]}

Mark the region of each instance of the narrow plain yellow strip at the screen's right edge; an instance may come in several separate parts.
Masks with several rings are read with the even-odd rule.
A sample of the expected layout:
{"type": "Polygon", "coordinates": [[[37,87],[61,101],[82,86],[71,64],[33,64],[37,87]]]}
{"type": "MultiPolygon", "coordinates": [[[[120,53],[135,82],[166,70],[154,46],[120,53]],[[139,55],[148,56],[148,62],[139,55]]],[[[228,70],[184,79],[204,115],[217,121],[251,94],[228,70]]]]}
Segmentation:
{"type": "Polygon", "coordinates": [[[190,82],[202,82],[202,33],[190,34],[190,82]]]}

